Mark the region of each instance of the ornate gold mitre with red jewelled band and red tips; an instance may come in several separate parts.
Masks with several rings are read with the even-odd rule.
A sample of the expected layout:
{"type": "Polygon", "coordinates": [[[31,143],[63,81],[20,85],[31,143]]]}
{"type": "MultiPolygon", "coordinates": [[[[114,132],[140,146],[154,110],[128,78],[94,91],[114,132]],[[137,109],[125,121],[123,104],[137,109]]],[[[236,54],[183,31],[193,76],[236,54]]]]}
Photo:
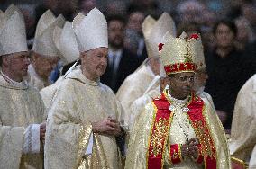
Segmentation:
{"type": "Polygon", "coordinates": [[[160,43],[160,58],[167,75],[181,72],[195,72],[197,55],[202,49],[198,35],[188,38],[183,32],[179,38],[165,36],[166,42],[160,43]]]}

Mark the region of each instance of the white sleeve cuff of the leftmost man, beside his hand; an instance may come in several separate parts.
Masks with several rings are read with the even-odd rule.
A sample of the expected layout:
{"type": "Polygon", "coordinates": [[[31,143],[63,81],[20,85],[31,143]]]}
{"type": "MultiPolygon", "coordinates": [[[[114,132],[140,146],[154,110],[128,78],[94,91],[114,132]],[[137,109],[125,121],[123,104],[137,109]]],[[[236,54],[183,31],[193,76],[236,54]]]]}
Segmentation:
{"type": "Polygon", "coordinates": [[[23,154],[40,152],[40,124],[29,125],[24,132],[23,154]]]}

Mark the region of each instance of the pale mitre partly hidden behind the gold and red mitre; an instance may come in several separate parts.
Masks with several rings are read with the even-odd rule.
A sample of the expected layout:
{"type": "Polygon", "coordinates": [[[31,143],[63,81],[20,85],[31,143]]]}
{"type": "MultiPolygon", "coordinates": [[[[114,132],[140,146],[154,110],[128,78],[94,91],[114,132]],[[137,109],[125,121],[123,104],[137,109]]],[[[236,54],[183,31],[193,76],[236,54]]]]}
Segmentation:
{"type": "Polygon", "coordinates": [[[174,37],[176,36],[176,27],[168,13],[162,13],[159,20],[154,20],[147,16],[142,23],[142,31],[147,47],[148,57],[158,57],[158,44],[162,37],[169,31],[174,37]]]}

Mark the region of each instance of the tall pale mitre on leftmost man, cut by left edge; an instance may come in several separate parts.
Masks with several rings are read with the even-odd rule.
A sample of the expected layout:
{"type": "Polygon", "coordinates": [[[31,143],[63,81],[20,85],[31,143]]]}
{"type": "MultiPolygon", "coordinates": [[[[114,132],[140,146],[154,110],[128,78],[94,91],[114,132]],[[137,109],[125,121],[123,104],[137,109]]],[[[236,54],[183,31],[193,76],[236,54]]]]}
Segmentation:
{"type": "Polygon", "coordinates": [[[0,21],[0,56],[28,51],[23,13],[11,5],[0,21]]]}

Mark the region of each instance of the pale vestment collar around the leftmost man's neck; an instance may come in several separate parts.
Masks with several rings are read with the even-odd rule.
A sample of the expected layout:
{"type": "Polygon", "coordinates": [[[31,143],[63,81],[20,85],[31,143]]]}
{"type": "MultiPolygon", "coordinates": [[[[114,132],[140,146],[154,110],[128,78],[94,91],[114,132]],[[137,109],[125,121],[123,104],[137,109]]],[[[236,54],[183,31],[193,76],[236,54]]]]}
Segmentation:
{"type": "Polygon", "coordinates": [[[15,82],[10,77],[3,74],[2,71],[0,73],[0,85],[5,88],[15,89],[15,90],[25,90],[25,89],[28,89],[29,87],[26,81],[22,81],[20,83],[15,82]]]}

